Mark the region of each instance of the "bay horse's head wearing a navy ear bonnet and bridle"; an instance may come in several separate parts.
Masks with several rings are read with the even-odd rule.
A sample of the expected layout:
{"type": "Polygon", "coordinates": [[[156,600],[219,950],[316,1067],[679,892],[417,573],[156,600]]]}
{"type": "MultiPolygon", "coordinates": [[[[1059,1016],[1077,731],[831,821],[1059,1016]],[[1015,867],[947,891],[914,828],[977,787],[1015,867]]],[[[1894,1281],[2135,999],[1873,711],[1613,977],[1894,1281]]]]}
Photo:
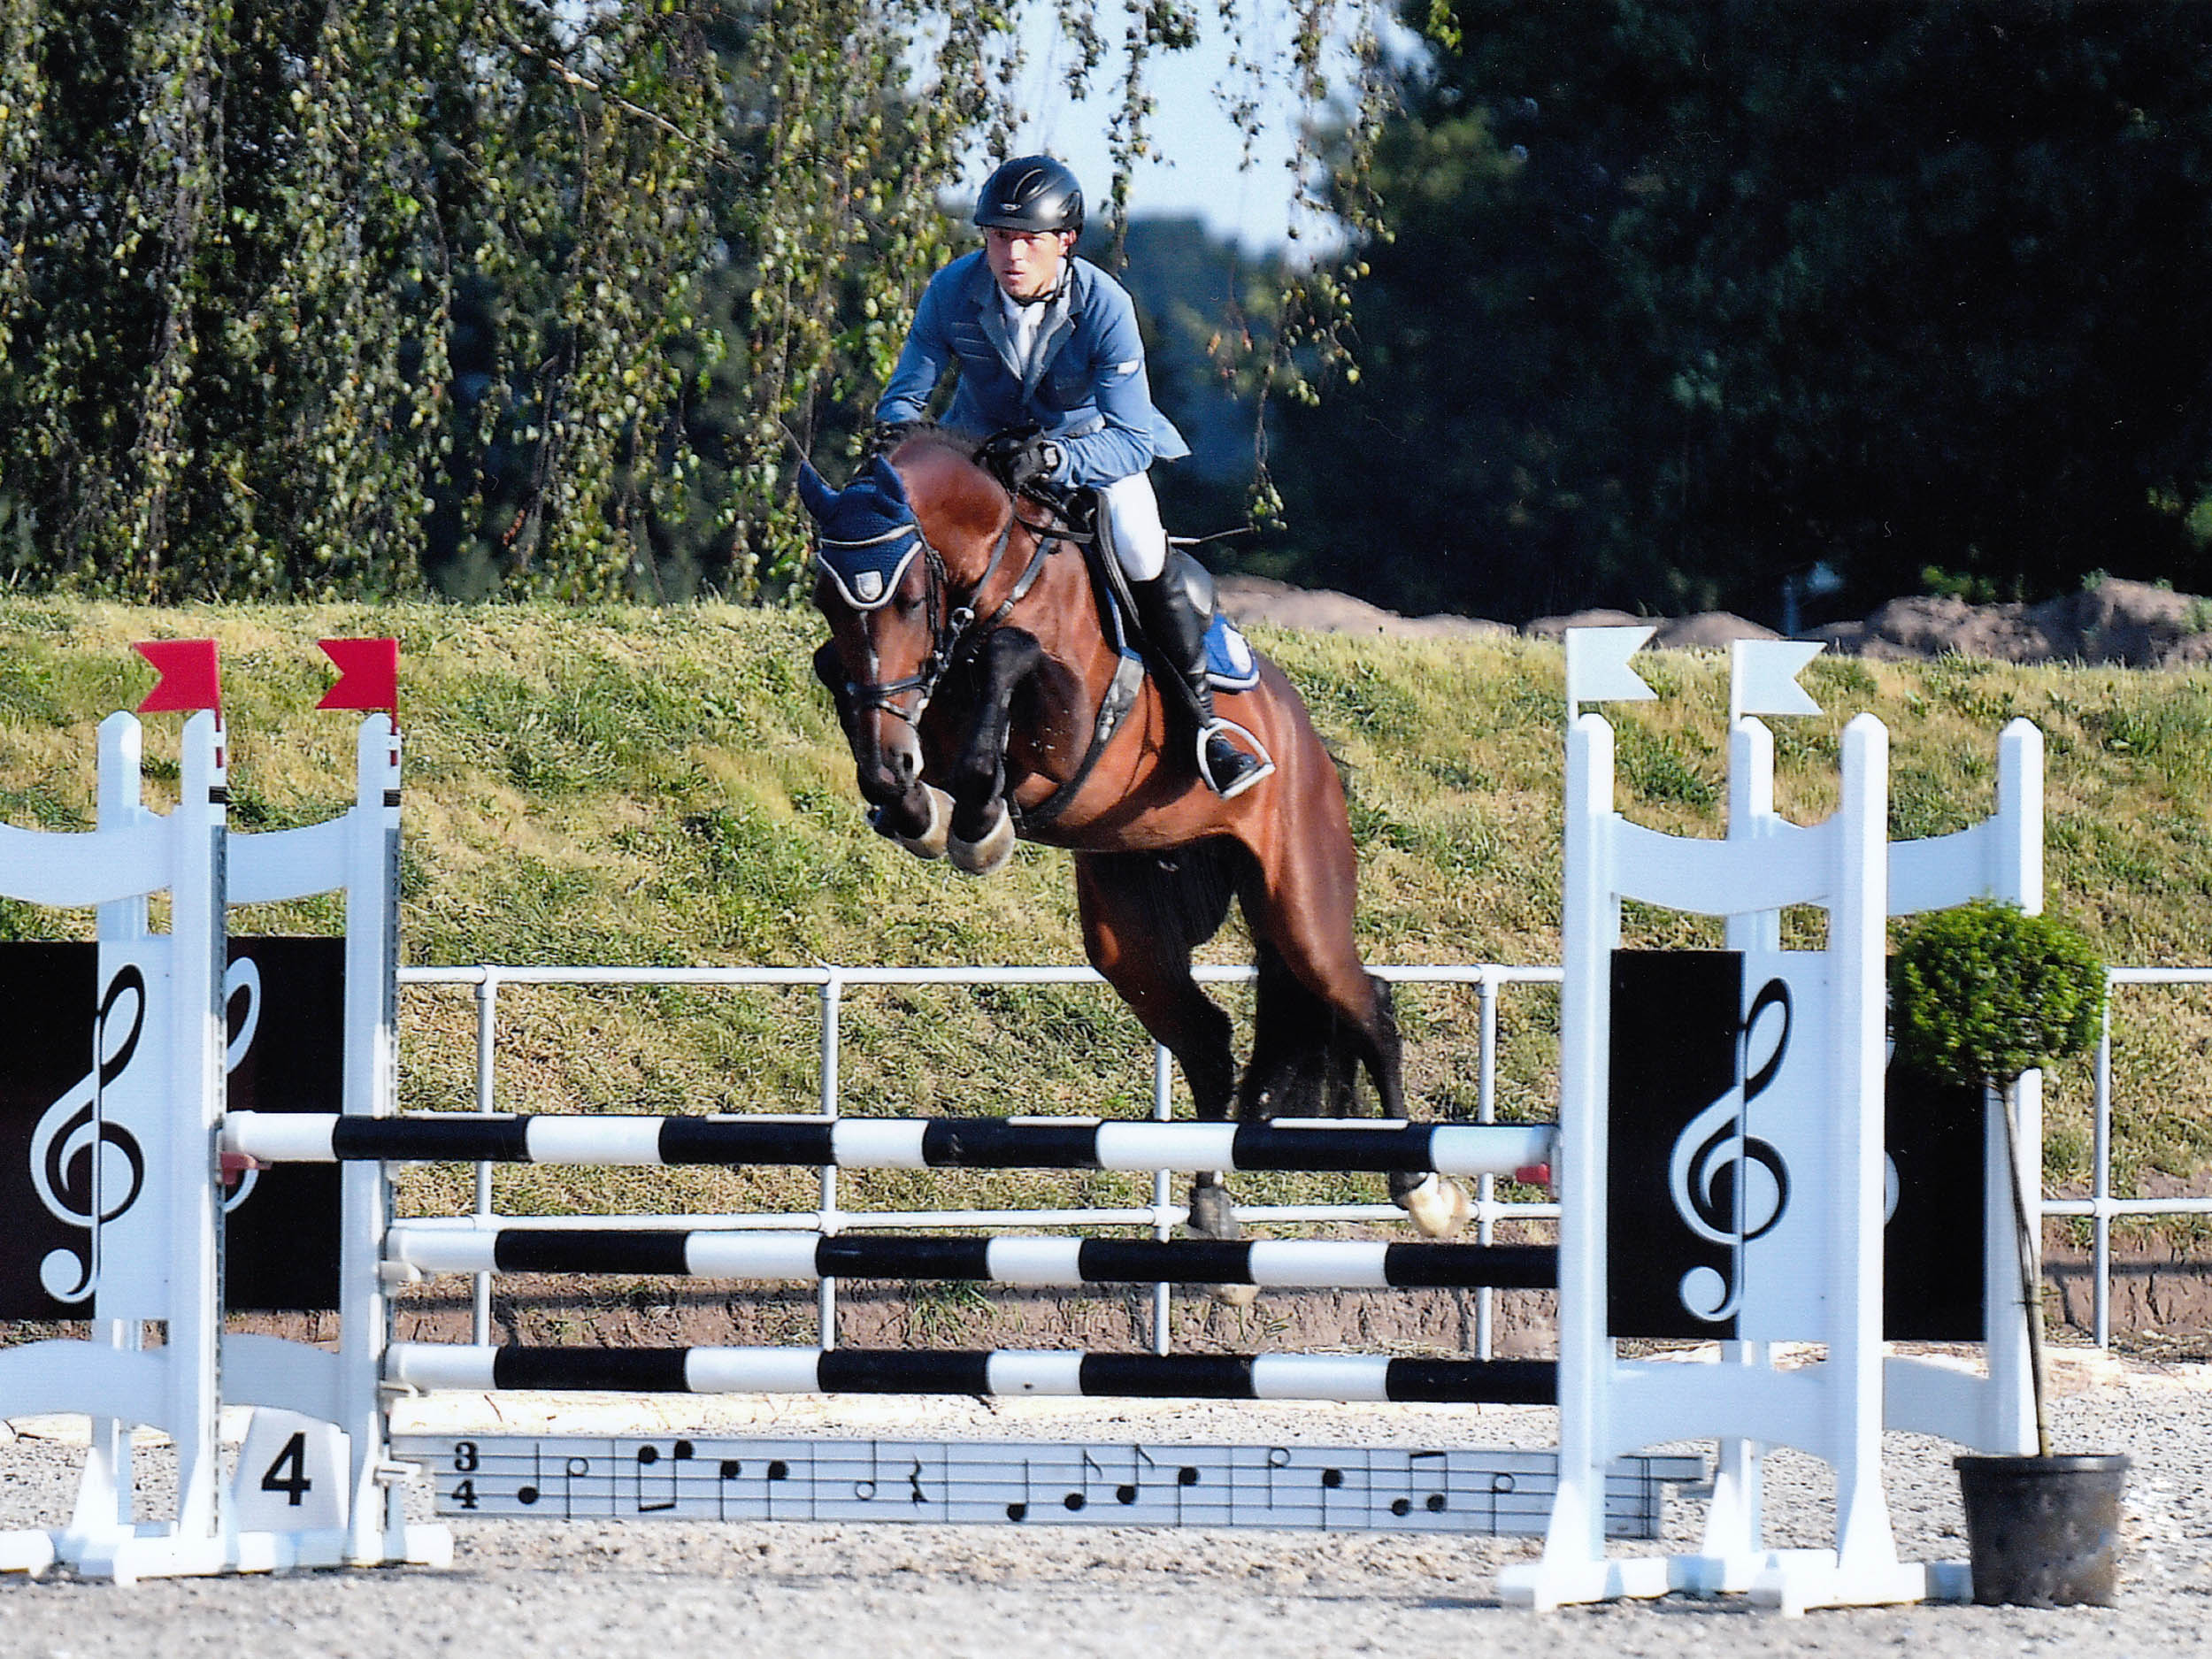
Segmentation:
{"type": "Polygon", "coordinates": [[[962,626],[967,566],[1004,524],[1006,498],[951,445],[909,442],[900,456],[911,495],[876,456],[845,489],[801,462],[799,498],[818,526],[814,606],[830,622],[816,675],[836,697],[860,794],[878,827],[927,838],[942,799],[922,783],[918,728],[962,626]]]}

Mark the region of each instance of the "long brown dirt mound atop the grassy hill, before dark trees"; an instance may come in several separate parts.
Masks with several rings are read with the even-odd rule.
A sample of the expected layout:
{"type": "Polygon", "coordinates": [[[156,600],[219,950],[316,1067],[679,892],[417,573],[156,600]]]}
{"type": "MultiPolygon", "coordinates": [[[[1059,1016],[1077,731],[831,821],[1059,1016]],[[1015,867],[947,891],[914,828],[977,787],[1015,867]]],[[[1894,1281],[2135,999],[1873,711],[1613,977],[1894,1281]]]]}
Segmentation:
{"type": "MultiPolygon", "coordinates": [[[[1524,635],[1557,639],[1568,628],[1626,628],[1655,624],[1652,644],[1670,650],[1719,650],[1734,639],[1781,639],[1772,628],[1703,611],[1690,617],[1635,617],[1626,611],[1573,611],[1511,628],[1482,617],[1400,617],[1365,599],[1327,588],[1294,588],[1256,575],[1221,577],[1221,604],[1237,622],[1314,633],[1374,633],[1398,639],[1475,639],[1524,635]]],[[[1993,661],[2084,661],[2126,668],[2190,668],[2212,661],[2212,599],[2150,582],[2106,577],[2093,588],[2042,604],[1966,604],[1964,599],[1891,599],[1865,622],[1814,628],[1845,657],[1907,661],[1927,657],[1986,657],[1993,661]]]]}

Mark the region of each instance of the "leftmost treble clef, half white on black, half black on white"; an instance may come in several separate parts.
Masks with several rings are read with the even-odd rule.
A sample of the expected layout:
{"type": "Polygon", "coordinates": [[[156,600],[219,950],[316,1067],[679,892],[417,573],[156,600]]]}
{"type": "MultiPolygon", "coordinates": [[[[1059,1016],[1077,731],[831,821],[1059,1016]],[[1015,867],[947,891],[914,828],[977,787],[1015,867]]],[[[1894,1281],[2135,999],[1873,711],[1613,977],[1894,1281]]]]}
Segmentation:
{"type": "Polygon", "coordinates": [[[44,1110],[31,1133],[31,1186],[58,1221],[88,1228],[80,1259],[75,1250],[51,1250],[38,1265],[38,1283],[60,1303],[88,1301],[100,1285],[100,1230],[137,1203],[146,1186],[146,1155],[137,1137],[111,1124],[106,1091],[137,1053],[146,1029],[146,975],[135,962],[117,969],[93,1015],[93,1068],[44,1110]],[[131,1024],[115,1035],[117,1004],[131,998],[131,1024]],[[111,1170],[113,1164],[122,1170],[111,1170]],[[122,1175],[117,1183],[111,1175],[122,1175]]]}

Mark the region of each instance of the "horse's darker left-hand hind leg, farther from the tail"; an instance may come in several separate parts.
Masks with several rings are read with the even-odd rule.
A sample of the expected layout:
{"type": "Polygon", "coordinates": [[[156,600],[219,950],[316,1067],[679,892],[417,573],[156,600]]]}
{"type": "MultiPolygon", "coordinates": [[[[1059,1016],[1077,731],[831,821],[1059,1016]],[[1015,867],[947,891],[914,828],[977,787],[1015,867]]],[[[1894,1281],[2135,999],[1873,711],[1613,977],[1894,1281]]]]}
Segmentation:
{"type": "MultiPolygon", "coordinates": [[[[1150,1033],[1175,1055],[1203,1121],[1230,1115],[1237,1051],[1230,1018],[1190,975],[1190,951],[1228,916],[1230,885],[1219,854],[1183,847],[1175,854],[1077,854],[1075,902],[1084,951],[1150,1033]]],[[[1237,1239],[1237,1210],[1219,1170],[1190,1183],[1190,1230],[1237,1239]]],[[[1250,1285],[1217,1285],[1214,1296],[1250,1303],[1250,1285]]]]}

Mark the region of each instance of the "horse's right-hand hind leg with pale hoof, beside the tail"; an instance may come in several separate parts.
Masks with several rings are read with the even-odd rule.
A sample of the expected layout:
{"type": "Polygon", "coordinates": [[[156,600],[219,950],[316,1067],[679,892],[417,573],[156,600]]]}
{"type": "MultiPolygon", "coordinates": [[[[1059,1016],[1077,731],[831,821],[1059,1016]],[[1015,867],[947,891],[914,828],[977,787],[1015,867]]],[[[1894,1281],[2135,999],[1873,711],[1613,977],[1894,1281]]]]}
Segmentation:
{"type": "MultiPolygon", "coordinates": [[[[1374,1084],[1376,1104],[1385,1117],[1405,1119],[1405,1073],[1398,1044],[1398,1020],[1391,1013],[1389,987],[1360,962],[1358,945],[1352,938],[1352,900],[1356,869],[1349,834],[1338,843],[1332,836],[1314,836],[1292,845],[1292,825],[1281,825],[1274,856],[1243,889],[1245,920],[1263,947],[1261,998],[1270,995],[1270,973],[1265,951],[1272,951],[1283,975],[1274,975],[1276,1009],[1261,1009],[1256,1026],[1270,1029],[1301,1026],[1307,1020],[1301,1002],[1318,1004],[1323,1018],[1332,1020],[1334,1042],[1358,1055],[1367,1079],[1374,1084]],[[1285,1015],[1287,1009],[1287,1015],[1285,1015]]],[[[1254,1046],[1248,1071],[1245,1099],[1239,1115],[1274,1115],[1281,1106],[1270,1106],[1254,1093],[1267,1088],[1270,1071],[1263,1064],[1265,1042],[1254,1046]]],[[[1323,1077],[1325,1095],[1336,1086],[1323,1077]]],[[[1347,1102],[1327,1099],[1329,1110],[1343,1110],[1347,1102]]],[[[1413,1225],[1431,1239],[1444,1239],[1467,1225],[1473,1206],[1458,1181],[1436,1172],[1391,1170],[1391,1203],[1405,1210],[1413,1225]]]]}

